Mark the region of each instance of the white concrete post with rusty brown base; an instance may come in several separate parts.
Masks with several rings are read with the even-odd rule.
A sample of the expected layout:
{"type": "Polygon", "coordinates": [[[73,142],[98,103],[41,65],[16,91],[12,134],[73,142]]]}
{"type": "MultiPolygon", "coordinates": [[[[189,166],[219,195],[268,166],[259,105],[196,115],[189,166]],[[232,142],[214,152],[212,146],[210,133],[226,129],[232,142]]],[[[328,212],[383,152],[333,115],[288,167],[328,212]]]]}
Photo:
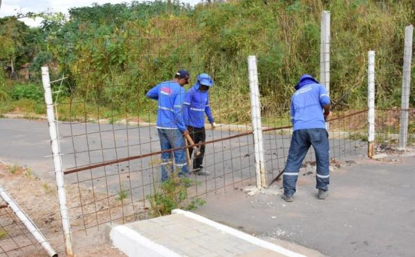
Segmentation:
{"type": "Polygon", "coordinates": [[[367,56],[369,59],[367,65],[367,106],[369,108],[367,115],[367,121],[369,122],[367,156],[372,158],[375,153],[375,51],[369,51],[367,56]]]}

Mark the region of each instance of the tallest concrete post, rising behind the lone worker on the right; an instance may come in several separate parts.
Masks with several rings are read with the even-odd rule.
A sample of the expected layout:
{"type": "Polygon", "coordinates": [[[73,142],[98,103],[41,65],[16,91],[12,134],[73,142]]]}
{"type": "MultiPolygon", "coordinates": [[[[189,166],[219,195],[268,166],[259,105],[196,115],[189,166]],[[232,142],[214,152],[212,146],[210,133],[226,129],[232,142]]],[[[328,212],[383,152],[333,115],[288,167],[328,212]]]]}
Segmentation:
{"type": "MultiPolygon", "coordinates": [[[[320,83],[330,95],[330,12],[322,11],[320,27],[320,83]]],[[[326,122],[329,131],[329,123],[326,122]]]]}

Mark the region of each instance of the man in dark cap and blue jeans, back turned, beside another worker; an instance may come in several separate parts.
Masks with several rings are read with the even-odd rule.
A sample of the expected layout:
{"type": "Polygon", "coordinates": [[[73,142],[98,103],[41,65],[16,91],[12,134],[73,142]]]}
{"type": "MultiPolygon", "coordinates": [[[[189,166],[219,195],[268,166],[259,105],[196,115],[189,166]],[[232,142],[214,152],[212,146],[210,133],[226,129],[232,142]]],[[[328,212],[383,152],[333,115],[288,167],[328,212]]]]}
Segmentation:
{"type": "MultiPolygon", "coordinates": [[[[158,100],[156,127],[162,151],[184,147],[183,135],[189,135],[182,115],[186,94],[183,88],[185,84],[189,84],[189,73],[187,70],[178,70],[173,80],[161,82],[151,88],[146,95],[150,99],[158,100]]],[[[189,168],[184,149],[174,151],[174,164],[179,177],[188,175],[189,168]]],[[[163,182],[167,180],[173,170],[172,152],[162,153],[161,180],[163,182]]]]}

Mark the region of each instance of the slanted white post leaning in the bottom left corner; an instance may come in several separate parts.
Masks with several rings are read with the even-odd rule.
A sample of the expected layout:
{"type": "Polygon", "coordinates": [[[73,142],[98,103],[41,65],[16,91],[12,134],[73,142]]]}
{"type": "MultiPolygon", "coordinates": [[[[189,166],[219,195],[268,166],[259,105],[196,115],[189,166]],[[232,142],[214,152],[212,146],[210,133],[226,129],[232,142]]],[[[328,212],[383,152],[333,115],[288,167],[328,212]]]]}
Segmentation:
{"type": "Polygon", "coordinates": [[[29,216],[24,213],[24,211],[19,207],[19,204],[13,200],[6,189],[0,184],[0,196],[7,202],[8,206],[12,211],[16,214],[17,218],[27,227],[28,231],[33,235],[33,237],[39,242],[42,247],[44,247],[45,251],[48,253],[48,256],[57,257],[55,250],[50,247],[48,240],[44,237],[42,232],[36,227],[35,223],[30,220],[29,216]]]}

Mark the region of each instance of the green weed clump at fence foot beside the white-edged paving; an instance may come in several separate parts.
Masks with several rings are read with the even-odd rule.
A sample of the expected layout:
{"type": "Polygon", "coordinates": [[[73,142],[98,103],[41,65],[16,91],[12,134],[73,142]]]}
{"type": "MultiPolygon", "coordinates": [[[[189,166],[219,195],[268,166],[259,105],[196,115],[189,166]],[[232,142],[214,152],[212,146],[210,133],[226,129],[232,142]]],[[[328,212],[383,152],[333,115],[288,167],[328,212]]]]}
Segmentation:
{"type": "Polygon", "coordinates": [[[187,189],[195,184],[188,178],[178,178],[174,175],[160,184],[159,188],[154,188],[154,194],[147,196],[151,205],[152,216],[159,217],[172,213],[172,209],[196,209],[205,204],[205,200],[200,198],[189,199],[187,189]]]}

